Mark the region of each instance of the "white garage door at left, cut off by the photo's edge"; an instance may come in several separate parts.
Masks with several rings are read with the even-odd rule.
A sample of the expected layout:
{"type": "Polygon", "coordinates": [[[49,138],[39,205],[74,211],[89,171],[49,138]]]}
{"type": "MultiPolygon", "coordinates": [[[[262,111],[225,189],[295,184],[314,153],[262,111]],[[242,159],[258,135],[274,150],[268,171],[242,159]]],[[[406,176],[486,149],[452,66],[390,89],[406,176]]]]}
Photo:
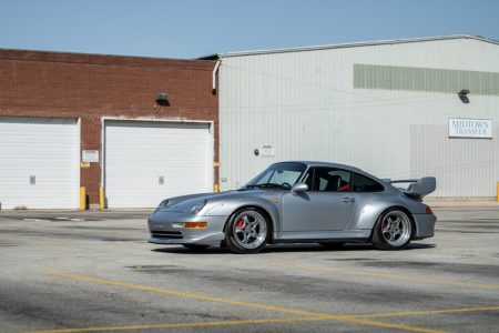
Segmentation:
{"type": "Polygon", "coordinates": [[[75,120],[0,118],[2,209],[75,209],[79,195],[75,120]]]}

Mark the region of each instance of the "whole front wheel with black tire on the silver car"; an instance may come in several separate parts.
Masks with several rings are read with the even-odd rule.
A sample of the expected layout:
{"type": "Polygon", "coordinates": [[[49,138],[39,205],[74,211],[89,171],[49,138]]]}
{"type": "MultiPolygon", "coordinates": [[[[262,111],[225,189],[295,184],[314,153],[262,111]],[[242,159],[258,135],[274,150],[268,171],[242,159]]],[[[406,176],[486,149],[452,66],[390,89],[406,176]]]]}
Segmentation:
{"type": "Polygon", "coordinates": [[[258,253],[268,243],[269,238],[268,219],[254,208],[236,211],[225,228],[225,244],[228,251],[234,253],[258,253]]]}

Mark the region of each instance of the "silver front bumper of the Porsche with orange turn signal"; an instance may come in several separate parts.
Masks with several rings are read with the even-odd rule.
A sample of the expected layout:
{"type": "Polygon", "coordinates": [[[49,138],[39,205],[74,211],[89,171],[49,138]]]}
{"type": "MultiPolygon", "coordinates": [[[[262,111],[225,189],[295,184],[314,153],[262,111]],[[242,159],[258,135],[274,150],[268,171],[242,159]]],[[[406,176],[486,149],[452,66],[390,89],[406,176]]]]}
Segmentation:
{"type": "Polygon", "coordinates": [[[198,216],[159,211],[149,218],[147,225],[154,244],[218,245],[225,239],[224,225],[228,216],[198,216]],[[203,229],[175,228],[186,222],[206,222],[203,229]]]}

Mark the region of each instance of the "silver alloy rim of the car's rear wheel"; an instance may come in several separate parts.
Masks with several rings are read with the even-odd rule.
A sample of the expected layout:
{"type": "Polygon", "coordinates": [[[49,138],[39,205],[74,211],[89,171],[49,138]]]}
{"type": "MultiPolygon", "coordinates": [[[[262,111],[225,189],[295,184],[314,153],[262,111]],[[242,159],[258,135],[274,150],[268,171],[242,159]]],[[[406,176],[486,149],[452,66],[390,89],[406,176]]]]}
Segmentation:
{"type": "Polygon", "coordinates": [[[403,211],[390,211],[381,221],[383,239],[394,248],[403,246],[410,239],[413,224],[403,211]]]}

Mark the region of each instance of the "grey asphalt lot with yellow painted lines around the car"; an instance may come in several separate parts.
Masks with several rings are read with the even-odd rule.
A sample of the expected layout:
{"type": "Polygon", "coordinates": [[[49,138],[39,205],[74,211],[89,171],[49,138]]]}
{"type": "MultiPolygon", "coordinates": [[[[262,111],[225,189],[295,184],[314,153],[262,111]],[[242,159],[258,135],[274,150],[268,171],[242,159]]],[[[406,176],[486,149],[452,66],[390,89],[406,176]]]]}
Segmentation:
{"type": "Polygon", "coordinates": [[[0,212],[0,332],[497,332],[499,208],[405,251],[146,242],[150,211],[0,212]]]}

